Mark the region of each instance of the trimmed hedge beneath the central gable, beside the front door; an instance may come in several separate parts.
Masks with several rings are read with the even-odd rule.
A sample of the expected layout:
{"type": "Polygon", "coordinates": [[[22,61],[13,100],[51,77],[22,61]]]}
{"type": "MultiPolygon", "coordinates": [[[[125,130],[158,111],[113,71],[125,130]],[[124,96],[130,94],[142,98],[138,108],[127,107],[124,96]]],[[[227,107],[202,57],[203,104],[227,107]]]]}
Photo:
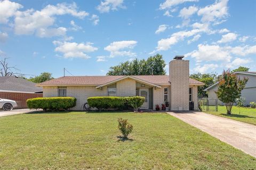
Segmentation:
{"type": "Polygon", "coordinates": [[[135,96],[135,97],[89,97],[87,102],[90,107],[95,107],[101,111],[102,109],[119,109],[122,110],[130,106],[134,111],[138,111],[145,100],[145,97],[135,96]]]}

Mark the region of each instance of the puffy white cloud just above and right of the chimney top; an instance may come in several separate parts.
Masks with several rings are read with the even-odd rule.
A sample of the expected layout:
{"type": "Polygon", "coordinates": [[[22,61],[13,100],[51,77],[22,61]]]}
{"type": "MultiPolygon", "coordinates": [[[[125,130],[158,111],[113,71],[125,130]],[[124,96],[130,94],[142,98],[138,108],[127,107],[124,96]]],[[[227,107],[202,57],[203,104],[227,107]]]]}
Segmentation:
{"type": "Polygon", "coordinates": [[[186,54],[186,56],[191,56],[196,58],[196,62],[202,61],[225,61],[230,62],[231,55],[228,50],[218,45],[203,45],[199,44],[198,50],[194,50],[186,54]]]}

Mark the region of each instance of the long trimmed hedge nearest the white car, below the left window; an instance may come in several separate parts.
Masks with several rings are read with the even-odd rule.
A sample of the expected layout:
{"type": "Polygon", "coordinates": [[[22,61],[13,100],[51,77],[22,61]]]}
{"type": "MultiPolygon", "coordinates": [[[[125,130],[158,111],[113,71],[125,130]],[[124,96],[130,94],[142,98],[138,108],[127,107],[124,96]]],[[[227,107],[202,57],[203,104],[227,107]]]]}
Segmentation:
{"type": "Polygon", "coordinates": [[[76,106],[76,98],[74,97],[38,97],[27,99],[28,108],[39,109],[42,108],[44,111],[60,111],[64,109],[67,111],[71,107],[76,106]]]}

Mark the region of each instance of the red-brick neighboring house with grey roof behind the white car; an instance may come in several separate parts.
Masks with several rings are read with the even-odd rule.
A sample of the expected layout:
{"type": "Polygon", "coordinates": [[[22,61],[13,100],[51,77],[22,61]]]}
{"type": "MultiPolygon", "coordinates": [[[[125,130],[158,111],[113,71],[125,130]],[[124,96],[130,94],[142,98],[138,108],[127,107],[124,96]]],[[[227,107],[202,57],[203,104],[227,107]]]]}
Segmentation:
{"type": "Polygon", "coordinates": [[[26,100],[43,97],[43,88],[36,83],[15,76],[0,77],[0,98],[15,100],[16,108],[27,108],[26,100]]]}

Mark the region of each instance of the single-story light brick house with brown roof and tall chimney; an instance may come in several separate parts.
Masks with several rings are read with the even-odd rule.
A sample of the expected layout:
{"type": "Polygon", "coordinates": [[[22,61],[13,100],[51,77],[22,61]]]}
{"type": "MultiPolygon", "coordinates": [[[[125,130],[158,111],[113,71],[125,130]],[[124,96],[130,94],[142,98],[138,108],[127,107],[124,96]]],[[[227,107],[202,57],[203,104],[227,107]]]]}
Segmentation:
{"type": "Polygon", "coordinates": [[[167,109],[189,110],[189,101],[198,109],[197,87],[204,85],[189,78],[189,61],[176,56],[169,63],[169,75],[117,75],[61,77],[40,84],[44,97],[70,96],[77,99],[73,110],[81,110],[88,97],[143,96],[142,109],[155,109],[166,102],[167,109]]]}

